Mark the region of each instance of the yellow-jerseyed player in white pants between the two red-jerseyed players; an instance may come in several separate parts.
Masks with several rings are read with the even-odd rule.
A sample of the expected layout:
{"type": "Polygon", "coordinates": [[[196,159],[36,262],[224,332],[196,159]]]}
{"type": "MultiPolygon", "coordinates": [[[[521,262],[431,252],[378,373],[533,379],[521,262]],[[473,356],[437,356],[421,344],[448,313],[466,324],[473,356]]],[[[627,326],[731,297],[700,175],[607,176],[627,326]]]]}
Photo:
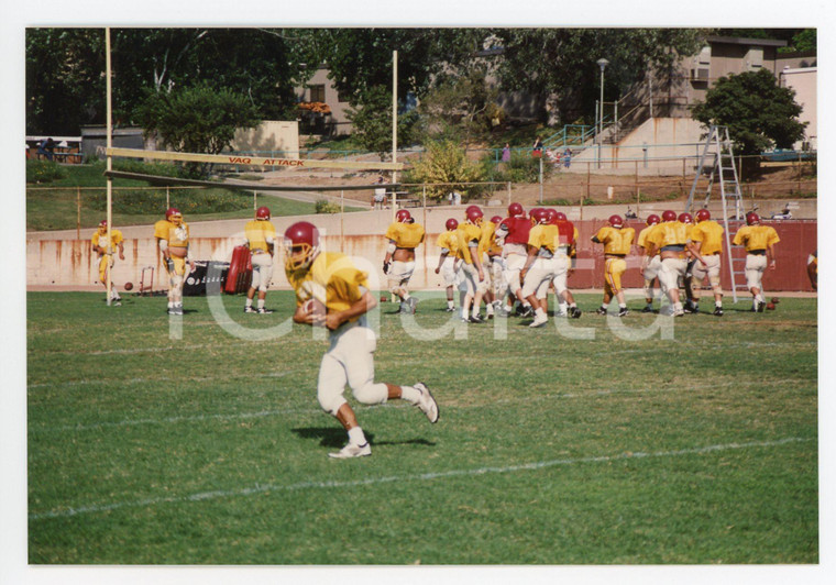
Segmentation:
{"type": "MultiPolygon", "coordinates": [[[[560,230],[549,222],[547,210],[538,208],[532,216],[537,223],[528,233],[528,255],[519,274],[522,278],[522,296],[535,309],[535,320],[528,327],[538,328],[549,322],[549,285],[554,283],[558,296],[561,295],[562,290],[556,277],[559,271],[565,275],[568,262],[559,266],[558,258],[554,257],[560,242],[560,230]]],[[[565,288],[565,284],[563,286],[565,288]]]]}

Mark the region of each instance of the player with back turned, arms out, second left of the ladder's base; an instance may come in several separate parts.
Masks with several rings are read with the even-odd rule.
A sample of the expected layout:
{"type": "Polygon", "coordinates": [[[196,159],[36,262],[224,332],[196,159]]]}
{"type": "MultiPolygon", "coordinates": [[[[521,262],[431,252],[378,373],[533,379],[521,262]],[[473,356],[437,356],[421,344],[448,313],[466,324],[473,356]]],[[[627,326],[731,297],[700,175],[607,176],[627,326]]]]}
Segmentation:
{"type": "Polygon", "coordinates": [[[679,221],[676,212],[668,209],[662,212],[662,221],[648,234],[647,242],[650,244],[648,255],[653,256],[658,252],[661,256],[659,284],[671,302],[671,311],[674,317],[682,317],[685,311],[680,300],[679,284],[688,271],[688,254],[703,262],[702,255],[691,243],[691,225],[679,221]]]}

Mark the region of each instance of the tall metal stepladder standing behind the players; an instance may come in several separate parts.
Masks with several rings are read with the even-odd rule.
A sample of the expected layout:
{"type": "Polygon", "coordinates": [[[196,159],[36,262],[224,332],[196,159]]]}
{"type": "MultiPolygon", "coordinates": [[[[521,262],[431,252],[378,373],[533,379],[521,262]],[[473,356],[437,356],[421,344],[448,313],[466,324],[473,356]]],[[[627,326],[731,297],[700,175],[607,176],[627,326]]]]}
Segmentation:
{"type": "Polygon", "coordinates": [[[685,211],[691,212],[694,206],[694,194],[700,181],[700,177],[711,169],[708,185],[705,190],[705,200],[703,208],[708,207],[712,197],[714,181],[719,183],[721,202],[723,203],[723,227],[726,240],[726,265],[728,266],[732,279],[732,297],[737,302],[737,291],[746,290],[746,254],[740,254],[740,249],[732,247],[732,229],[743,225],[744,221],[744,199],[740,191],[740,181],[737,176],[735,166],[735,155],[732,148],[732,140],[728,136],[728,126],[712,125],[708,129],[708,136],[705,140],[703,152],[700,155],[694,183],[691,185],[691,191],[685,203],[685,211]],[[729,206],[730,203],[730,206],[729,206]],[[734,208],[734,214],[729,217],[729,207],[734,208]],[[730,221],[729,221],[730,220],[730,221]]]}

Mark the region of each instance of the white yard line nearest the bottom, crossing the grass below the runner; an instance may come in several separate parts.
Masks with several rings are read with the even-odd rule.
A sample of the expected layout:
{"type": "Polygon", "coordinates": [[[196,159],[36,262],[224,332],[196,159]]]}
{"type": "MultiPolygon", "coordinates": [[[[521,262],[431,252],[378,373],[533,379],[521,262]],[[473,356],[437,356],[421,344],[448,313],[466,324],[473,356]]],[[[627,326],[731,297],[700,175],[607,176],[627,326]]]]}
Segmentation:
{"type": "Polygon", "coordinates": [[[477,467],[474,470],[449,470],[446,472],[432,472],[421,473],[413,475],[391,475],[383,477],[367,477],[365,479],[354,479],[346,482],[299,482],[288,485],[278,484],[255,484],[253,487],[244,487],[240,489],[217,489],[212,492],[199,492],[197,494],[190,494],[187,496],[170,496],[166,498],[147,498],[136,501],[116,501],[112,504],[92,504],[89,506],[80,506],[78,508],[66,508],[59,510],[51,510],[38,514],[31,514],[30,520],[45,520],[50,518],[69,518],[74,516],[80,516],[86,514],[98,514],[118,510],[121,508],[144,508],[150,506],[158,506],[161,504],[179,504],[188,501],[205,501],[218,498],[230,497],[245,497],[257,494],[264,494],[267,492],[297,492],[300,489],[342,489],[346,487],[361,487],[367,485],[391,484],[395,482],[427,482],[431,479],[443,479],[448,477],[468,477],[475,475],[486,474],[499,474],[499,473],[515,473],[526,471],[544,470],[549,467],[557,467],[562,465],[578,465],[584,463],[608,463],[617,461],[628,461],[638,459],[653,459],[653,457],[678,457],[683,455],[702,455],[706,453],[716,453],[722,451],[733,451],[740,449],[756,449],[756,448],[773,448],[781,446],[789,443],[809,442],[813,439],[802,437],[789,437],[787,439],[779,439],[777,441],[754,441],[748,443],[727,443],[716,444],[708,446],[696,446],[691,449],[680,449],[676,451],[658,451],[656,453],[620,453],[617,455],[600,455],[590,457],[578,459],[559,459],[548,461],[536,461],[531,463],[524,463],[520,465],[507,465],[504,467],[477,467]]]}

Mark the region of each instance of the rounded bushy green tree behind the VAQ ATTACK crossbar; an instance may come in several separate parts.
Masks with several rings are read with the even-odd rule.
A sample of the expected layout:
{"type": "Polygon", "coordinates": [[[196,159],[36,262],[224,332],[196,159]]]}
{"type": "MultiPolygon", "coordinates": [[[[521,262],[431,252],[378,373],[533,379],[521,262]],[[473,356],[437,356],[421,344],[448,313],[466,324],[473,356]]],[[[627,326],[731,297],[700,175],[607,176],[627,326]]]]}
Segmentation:
{"type": "MultiPolygon", "coordinates": [[[[238,129],[255,128],[258,111],[251,101],[229,89],[208,84],[150,92],[138,108],[145,134],[156,134],[161,146],[189,153],[218,154],[230,147],[238,129]]],[[[208,165],[187,165],[206,174],[208,165]]]]}

